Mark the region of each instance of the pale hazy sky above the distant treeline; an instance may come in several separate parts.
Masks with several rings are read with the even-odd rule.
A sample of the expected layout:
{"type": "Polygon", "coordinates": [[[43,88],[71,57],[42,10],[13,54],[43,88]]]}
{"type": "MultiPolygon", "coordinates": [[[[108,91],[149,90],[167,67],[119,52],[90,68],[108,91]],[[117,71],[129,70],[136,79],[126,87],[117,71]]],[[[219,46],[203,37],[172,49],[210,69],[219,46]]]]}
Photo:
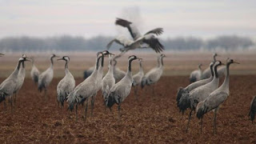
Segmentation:
{"type": "Polygon", "coordinates": [[[163,38],[237,34],[255,37],[255,0],[0,0],[0,38],[117,35],[117,17],[142,33],[163,27],[163,38]]]}

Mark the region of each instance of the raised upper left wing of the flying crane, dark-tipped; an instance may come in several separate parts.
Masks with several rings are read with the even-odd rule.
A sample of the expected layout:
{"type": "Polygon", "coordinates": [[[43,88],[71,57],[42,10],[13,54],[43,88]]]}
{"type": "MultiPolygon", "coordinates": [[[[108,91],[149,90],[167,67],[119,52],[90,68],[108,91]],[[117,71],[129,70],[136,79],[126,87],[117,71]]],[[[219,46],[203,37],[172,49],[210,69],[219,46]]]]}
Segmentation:
{"type": "Polygon", "coordinates": [[[115,24],[118,26],[126,27],[129,30],[131,37],[134,38],[134,40],[142,36],[142,34],[139,33],[137,27],[132,25],[132,22],[126,21],[122,18],[117,18],[115,24]]]}

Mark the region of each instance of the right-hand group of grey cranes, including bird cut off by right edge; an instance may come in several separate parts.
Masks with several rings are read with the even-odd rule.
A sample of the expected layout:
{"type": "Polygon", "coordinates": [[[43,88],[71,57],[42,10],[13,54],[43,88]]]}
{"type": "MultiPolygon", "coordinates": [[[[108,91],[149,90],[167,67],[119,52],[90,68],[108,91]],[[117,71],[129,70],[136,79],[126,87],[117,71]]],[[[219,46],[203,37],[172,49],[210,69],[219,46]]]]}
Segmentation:
{"type": "MultiPolygon", "coordinates": [[[[217,112],[219,107],[226,98],[230,95],[229,82],[230,82],[230,64],[237,63],[233,59],[227,58],[226,66],[224,63],[217,61],[217,54],[214,54],[214,61],[210,62],[210,75],[208,74],[208,69],[202,73],[201,80],[192,82],[189,86],[185,88],[180,87],[177,93],[177,106],[179,110],[184,114],[184,112],[189,108],[190,113],[188,117],[188,123],[186,126],[186,131],[189,130],[190,118],[192,112],[195,111],[197,118],[201,119],[200,125],[202,132],[202,119],[205,114],[214,111],[214,134],[217,133],[217,112]],[[218,69],[220,67],[220,69],[218,69]],[[223,71],[226,70],[226,71],[223,71]],[[219,78],[225,75],[225,80],[221,86],[219,86],[219,78]],[[206,79],[204,79],[206,78],[206,79]]],[[[250,118],[254,121],[254,115],[256,112],[256,98],[253,99],[250,105],[250,118]]]]}

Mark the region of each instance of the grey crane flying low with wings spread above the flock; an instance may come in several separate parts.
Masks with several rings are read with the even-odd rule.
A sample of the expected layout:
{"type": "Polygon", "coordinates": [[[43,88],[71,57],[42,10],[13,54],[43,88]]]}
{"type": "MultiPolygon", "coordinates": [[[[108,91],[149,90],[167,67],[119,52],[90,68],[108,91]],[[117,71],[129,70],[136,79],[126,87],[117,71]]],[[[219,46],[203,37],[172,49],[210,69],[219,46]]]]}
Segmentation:
{"type": "Polygon", "coordinates": [[[154,30],[150,30],[146,34],[142,35],[139,33],[138,29],[132,25],[132,22],[126,21],[122,18],[117,18],[115,24],[118,26],[126,27],[134,41],[126,38],[126,37],[118,37],[114,38],[110,43],[106,46],[108,49],[112,45],[113,42],[117,42],[118,44],[124,46],[124,48],[120,49],[122,52],[126,52],[128,50],[134,50],[137,48],[152,48],[155,52],[160,53],[164,50],[164,46],[159,42],[158,38],[154,35],[162,34],[162,28],[156,28],[154,30]],[[146,45],[146,46],[145,46],[146,45]]]}

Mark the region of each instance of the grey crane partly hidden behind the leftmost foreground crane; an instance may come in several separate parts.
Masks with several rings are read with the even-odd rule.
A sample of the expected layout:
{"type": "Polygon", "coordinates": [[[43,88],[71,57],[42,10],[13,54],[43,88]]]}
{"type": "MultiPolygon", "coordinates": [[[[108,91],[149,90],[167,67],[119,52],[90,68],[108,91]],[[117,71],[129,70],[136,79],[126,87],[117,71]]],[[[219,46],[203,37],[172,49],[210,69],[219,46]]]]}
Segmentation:
{"type": "MultiPolygon", "coordinates": [[[[22,58],[27,58],[26,54],[22,54],[22,58]]],[[[18,70],[18,82],[17,82],[17,86],[14,90],[14,94],[15,94],[14,95],[14,104],[16,103],[16,98],[18,96],[18,91],[22,88],[25,76],[26,76],[26,69],[25,69],[25,63],[23,61],[21,68],[18,70]]]]}

